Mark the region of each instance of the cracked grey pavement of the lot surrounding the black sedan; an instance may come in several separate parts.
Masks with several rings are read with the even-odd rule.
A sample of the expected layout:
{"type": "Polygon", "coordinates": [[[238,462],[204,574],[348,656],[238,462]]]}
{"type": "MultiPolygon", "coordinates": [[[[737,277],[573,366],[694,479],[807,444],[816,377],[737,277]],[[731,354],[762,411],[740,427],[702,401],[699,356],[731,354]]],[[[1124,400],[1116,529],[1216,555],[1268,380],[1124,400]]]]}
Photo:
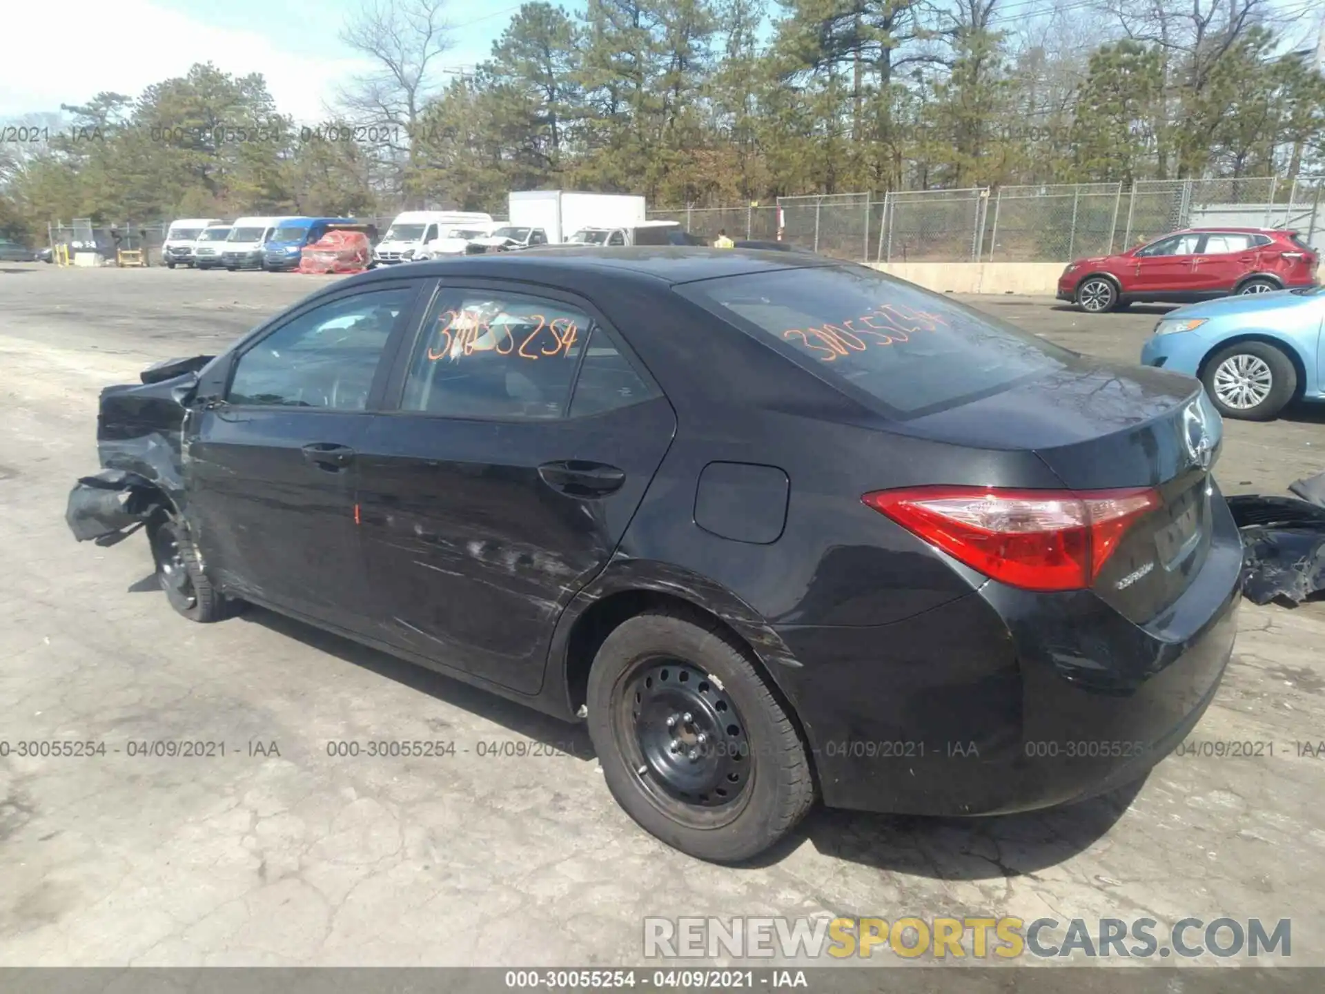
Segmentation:
{"type": "MultiPolygon", "coordinates": [[[[327,278],[0,270],[0,740],[228,744],[0,758],[0,965],[624,965],[647,916],[735,914],[1291,918],[1291,962],[1325,965],[1325,755],[1297,745],[1325,740],[1325,603],[1244,604],[1192,733],[1272,755],[1170,757],[1130,804],[818,811],[719,868],[637,830],[578,728],[265,611],[189,624],[140,537],[76,543],[65,498],[98,468],[98,390],[215,353],[327,278]],[[327,753],[383,737],[470,750],[327,753]]],[[[1163,310],[970,302],[1120,359],[1163,310]]],[[[1281,493],[1322,467],[1325,416],[1302,411],[1230,423],[1218,476],[1281,493]]]]}

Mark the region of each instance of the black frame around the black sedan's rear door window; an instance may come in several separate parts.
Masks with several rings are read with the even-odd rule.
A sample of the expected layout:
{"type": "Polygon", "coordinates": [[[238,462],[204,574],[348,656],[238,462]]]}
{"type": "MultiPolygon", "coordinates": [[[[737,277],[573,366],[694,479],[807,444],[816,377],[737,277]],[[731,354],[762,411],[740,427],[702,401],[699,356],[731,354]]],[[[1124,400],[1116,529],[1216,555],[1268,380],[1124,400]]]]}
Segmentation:
{"type": "MultiPolygon", "coordinates": [[[[627,341],[625,335],[607,319],[603,311],[595,306],[588,298],[580,297],[576,293],[570,293],[559,288],[547,286],[545,284],[526,282],[522,280],[492,280],[482,277],[450,277],[448,280],[433,280],[432,290],[419,296],[419,304],[415,309],[415,318],[411,322],[413,325],[408,339],[403,338],[398,345],[395,363],[391,370],[391,376],[384,384],[382,403],[375,411],[378,415],[384,415],[388,417],[423,417],[436,421],[454,421],[454,423],[481,423],[481,424],[564,424],[567,421],[584,421],[590,417],[603,417],[604,415],[612,414],[612,411],[598,411],[594,414],[570,416],[571,404],[575,400],[575,387],[579,384],[580,368],[584,364],[584,358],[588,355],[588,349],[582,349],[579,359],[575,362],[575,370],[571,374],[570,388],[566,392],[566,402],[562,404],[562,412],[556,417],[521,417],[518,415],[497,416],[497,415],[452,415],[452,414],[433,414],[431,411],[407,411],[400,407],[405,395],[405,382],[409,378],[409,366],[413,360],[415,349],[419,345],[419,335],[423,334],[423,322],[432,313],[433,304],[444,293],[465,293],[468,290],[489,292],[489,293],[510,293],[510,294],[523,294],[527,297],[542,297],[549,301],[556,301],[570,307],[576,307],[584,311],[590,318],[590,335],[586,342],[592,339],[592,331],[602,327],[604,334],[607,334],[612,345],[621,354],[621,358],[629,363],[631,370],[640,382],[644,383],[649,390],[653,391],[653,396],[648,400],[641,400],[640,403],[648,403],[651,400],[668,400],[666,392],[662,386],[657,382],[657,378],[649,372],[648,367],[640,359],[635,349],[627,341]]],[[[631,404],[635,407],[636,404],[631,404]]],[[[621,408],[613,408],[621,410],[621,408]]]]}

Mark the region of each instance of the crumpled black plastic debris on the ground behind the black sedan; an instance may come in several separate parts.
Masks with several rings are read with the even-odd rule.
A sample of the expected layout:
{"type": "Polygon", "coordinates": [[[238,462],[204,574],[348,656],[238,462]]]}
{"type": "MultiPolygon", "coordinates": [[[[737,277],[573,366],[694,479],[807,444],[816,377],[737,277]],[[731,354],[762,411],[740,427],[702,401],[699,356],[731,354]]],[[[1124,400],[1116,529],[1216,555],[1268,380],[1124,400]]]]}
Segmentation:
{"type": "Polygon", "coordinates": [[[1243,537],[1243,594],[1298,604],[1325,590],[1325,473],[1288,488],[1298,497],[1228,498],[1243,537]]]}

